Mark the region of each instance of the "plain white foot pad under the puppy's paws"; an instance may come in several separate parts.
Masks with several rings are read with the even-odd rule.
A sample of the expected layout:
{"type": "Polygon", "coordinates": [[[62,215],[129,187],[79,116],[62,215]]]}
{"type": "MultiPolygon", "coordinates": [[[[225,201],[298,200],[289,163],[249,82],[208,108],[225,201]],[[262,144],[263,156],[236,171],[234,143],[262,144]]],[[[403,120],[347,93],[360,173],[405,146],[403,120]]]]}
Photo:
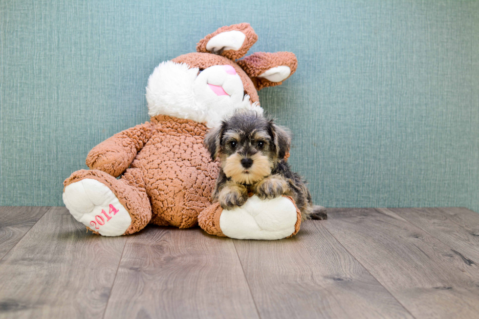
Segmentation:
{"type": "Polygon", "coordinates": [[[236,239],[281,239],[294,233],[296,207],[287,198],[261,200],[253,195],[241,207],[223,210],[221,232],[236,239]]]}

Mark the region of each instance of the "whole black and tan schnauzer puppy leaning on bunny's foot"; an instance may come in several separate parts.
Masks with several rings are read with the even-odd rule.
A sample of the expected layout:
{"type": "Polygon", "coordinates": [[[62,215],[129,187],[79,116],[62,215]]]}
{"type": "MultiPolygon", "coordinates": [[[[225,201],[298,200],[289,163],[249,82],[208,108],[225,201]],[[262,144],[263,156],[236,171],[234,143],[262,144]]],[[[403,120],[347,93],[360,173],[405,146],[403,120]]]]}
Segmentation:
{"type": "Polygon", "coordinates": [[[236,112],[218,128],[206,134],[204,145],[221,170],[213,191],[213,201],[230,210],[243,205],[248,192],[261,199],[291,196],[302,219],[326,219],[322,206],[313,206],[302,177],[286,162],[291,134],[254,111],[236,112]]]}

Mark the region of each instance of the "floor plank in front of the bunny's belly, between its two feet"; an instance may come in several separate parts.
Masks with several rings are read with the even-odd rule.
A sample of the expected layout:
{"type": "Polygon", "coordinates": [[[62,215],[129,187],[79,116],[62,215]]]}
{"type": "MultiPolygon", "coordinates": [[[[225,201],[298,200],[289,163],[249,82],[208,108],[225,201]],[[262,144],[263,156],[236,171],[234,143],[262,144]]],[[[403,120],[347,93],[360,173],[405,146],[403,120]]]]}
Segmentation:
{"type": "Polygon", "coordinates": [[[128,237],[105,318],[258,318],[232,239],[151,226],[128,237]]]}

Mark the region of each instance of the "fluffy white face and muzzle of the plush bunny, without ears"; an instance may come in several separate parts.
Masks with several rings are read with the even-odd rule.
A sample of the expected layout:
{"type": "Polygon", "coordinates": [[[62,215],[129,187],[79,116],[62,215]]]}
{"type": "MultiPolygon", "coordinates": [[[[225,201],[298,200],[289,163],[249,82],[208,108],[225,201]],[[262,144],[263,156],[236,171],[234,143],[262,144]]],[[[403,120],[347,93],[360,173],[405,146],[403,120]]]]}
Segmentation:
{"type": "Polygon", "coordinates": [[[159,114],[204,122],[215,127],[236,109],[255,109],[231,65],[214,65],[202,71],[171,61],[158,65],[148,80],[149,115],[159,114]]]}

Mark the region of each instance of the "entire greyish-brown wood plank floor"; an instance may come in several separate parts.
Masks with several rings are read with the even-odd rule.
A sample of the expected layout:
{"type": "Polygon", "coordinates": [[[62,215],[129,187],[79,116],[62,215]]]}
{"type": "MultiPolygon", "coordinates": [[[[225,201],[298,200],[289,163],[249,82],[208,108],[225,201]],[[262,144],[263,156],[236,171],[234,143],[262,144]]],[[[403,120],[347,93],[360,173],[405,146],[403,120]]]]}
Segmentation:
{"type": "Polygon", "coordinates": [[[479,214],[329,209],[298,235],[86,232],[0,207],[0,318],[479,318],[479,214]]]}

